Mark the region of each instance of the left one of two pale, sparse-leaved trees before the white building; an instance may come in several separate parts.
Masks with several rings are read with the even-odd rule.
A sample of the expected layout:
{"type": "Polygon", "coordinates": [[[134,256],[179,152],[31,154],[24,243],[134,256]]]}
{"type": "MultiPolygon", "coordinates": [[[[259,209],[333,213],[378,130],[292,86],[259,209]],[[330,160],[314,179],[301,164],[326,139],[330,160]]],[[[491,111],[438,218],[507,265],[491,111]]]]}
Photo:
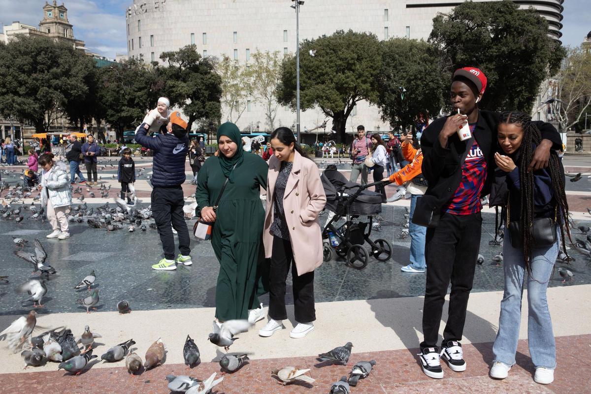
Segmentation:
{"type": "Polygon", "coordinates": [[[215,64],[215,70],[222,79],[222,105],[226,121],[236,123],[246,110],[246,101],[252,93],[251,73],[238,60],[222,55],[215,64]]]}

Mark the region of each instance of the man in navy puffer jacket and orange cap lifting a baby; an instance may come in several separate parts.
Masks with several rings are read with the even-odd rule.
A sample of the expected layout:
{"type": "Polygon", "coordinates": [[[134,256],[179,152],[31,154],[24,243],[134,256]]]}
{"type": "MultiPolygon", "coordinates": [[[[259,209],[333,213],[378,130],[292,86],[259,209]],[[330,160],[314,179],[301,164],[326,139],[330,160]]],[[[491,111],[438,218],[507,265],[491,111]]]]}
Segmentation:
{"type": "Polygon", "coordinates": [[[184,220],[184,196],[181,184],[185,181],[185,161],[189,151],[187,122],[180,113],[170,115],[166,133],[148,136],[148,128],[142,123],[135,135],[138,144],[154,152],[152,161],[152,213],[164,249],[164,259],[152,265],[152,269],[172,271],[176,264],[191,265],[189,230],[184,220]],[[174,259],[174,237],[171,228],[178,232],[180,254],[174,259]]]}

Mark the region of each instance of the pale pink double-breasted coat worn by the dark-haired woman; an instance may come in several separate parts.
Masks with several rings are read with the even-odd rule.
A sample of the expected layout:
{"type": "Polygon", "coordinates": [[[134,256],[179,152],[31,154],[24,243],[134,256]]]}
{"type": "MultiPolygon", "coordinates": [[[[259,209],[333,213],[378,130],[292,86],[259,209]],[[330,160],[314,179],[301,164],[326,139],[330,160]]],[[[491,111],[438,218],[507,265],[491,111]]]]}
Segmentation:
{"type": "MultiPolygon", "coordinates": [[[[266,258],[271,257],[273,247],[273,235],[269,229],[273,223],[273,193],[280,169],[279,159],[275,156],[269,158],[267,209],[262,236],[266,258]]],[[[324,204],[326,204],[326,194],[320,181],[318,167],[313,161],[301,157],[296,151],[291,174],[285,187],[283,207],[290,230],[291,249],[298,275],[314,271],[322,264],[322,232],[318,214],[324,209],[324,204]]]]}

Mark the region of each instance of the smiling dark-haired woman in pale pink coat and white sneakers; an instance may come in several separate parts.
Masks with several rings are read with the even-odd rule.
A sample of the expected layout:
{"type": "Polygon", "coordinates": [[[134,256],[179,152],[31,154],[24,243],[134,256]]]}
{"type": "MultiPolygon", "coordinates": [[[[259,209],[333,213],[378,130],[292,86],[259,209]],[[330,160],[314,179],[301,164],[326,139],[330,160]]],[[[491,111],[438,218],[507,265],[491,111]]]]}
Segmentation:
{"type": "Polygon", "coordinates": [[[293,277],[297,325],[291,338],[303,338],[314,330],[314,269],[322,264],[322,234],[318,214],[326,195],[320,171],[285,127],[271,134],[274,155],[269,158],[267,210],[263,242],[269,267],[269,322],[259,330],[270,337],[284,327],[285,281],[293,277]]]}

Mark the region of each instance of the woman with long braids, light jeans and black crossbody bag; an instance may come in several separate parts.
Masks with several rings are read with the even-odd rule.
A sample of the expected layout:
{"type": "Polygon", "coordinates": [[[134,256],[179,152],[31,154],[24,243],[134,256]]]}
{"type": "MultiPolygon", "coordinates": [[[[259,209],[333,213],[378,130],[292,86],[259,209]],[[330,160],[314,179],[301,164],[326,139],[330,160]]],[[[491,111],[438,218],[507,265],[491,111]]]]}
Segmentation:
{"type": "Polygon", "coordinates": [[[528,164],[540,142],[540,131],[529,115],[521,112],[501,114],[498,143],[502,152],[496,152],[495,161],[507,174],[509,195],[505,215],[508,223],[505,224],[503,243],[505,289],[499,332],[493,345],[491,377],[505,379],[515,364],[523,281],[527,272],[528,346],[535,366],[534,380],[547,385],[554,380],[556,344],[546,288],[560,244],[566,253],[564,233],[570,238],[570,231],[565,220],[569,206],[564,193],[564,170],[556,152],[551,153],[547,168],[528,171],[528,164]],[[550,237],[532,230],[524,231],[535,230],[534,221],[544,219],[546,229],[556,230],[558,227],[554,241],[551,240],[553,231],[548,232],[550,237]]]}

